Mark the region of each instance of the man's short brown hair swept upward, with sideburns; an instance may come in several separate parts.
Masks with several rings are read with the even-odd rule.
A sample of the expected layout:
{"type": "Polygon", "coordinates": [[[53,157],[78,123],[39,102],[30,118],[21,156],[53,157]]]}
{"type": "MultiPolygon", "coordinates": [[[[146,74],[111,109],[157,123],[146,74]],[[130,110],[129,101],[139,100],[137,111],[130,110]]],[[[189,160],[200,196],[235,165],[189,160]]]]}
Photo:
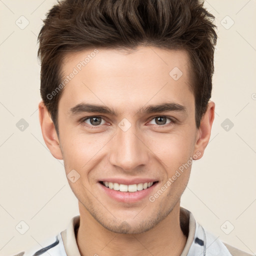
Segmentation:
{"type": "Polygon", "coordinates": [[[58,133],[57,105],[62,92],[61,61],[86,48],[135,49],[149,45],[188,52],[195,123],[211,96],[217,35],[214,16],[199,0],[61,0],[47,13],[38,35],[40,93],[58,133]]]}

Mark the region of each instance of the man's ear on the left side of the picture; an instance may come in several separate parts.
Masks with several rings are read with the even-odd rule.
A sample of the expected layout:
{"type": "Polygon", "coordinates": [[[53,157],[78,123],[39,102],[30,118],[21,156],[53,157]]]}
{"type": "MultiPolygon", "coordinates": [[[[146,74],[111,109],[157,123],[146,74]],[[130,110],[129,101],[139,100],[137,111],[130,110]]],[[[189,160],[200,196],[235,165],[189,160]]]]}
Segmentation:
{"type": "Polygon", "coordinates": [[[60,150],[59,139],[55,130],[55,126],[51,120],[50,114],[43,101],[39,102],[39,122],[41,125],[42,136],[46,146],[51,154],[57,159],[63,159],[60,150]]]}

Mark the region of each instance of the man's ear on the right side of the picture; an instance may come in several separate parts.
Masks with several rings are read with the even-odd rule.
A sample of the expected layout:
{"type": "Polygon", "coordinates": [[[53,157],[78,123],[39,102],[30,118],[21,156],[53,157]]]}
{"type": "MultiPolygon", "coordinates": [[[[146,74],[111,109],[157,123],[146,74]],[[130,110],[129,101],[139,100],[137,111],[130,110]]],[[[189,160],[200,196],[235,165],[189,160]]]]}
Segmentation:
{"type": "Polygon", "coordinates": [[[194,146],[194,154],[197,155],[196,159],[200,159],[202,157],[204,149],[209,142],[211,126],[214,120],[214,109],[215,103],[213,101],[209,101],[207,110],[201,118],[200,127],[196,136],[194,146]],[[200,152],[200,154],[198,152],[200,152]]]}

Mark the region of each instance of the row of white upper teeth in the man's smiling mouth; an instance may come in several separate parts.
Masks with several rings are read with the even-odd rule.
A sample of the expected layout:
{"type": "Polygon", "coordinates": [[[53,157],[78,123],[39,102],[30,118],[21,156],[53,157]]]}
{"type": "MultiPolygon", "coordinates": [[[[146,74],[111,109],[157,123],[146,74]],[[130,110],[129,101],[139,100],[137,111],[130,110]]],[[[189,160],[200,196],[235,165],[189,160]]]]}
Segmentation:
{"type": "Polygon", "coordinates": [[[99,183],[104,185],[105,187],[108,187],[109,189],[113,189],[121,192],[136,192],[136,191],[147,189],[157,182],[158,181],[129,184],[129,185],[113,183],[108,181],[100,181],[99,183]]]}

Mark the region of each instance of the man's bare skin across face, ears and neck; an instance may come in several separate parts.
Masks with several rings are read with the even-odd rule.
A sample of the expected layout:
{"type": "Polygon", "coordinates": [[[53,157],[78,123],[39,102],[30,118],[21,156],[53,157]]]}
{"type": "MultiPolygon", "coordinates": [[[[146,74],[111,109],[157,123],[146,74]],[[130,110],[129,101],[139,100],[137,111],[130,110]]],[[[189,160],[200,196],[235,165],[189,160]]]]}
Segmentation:
{"type": "MultiPolygon", "coordinates": [[[[183,50],[140,46],[99,52],[72,78],[58,102],[59,136],[43,102],[39,119],[44,141],[52,155],[64,160],[65,172],[75,169],[80,177],[69,185],[78,198],[80,226],[77,244],[87,255],[180,255],[186,236],[179,225],[180,196],[191,165],[153,202],[117,202],[100,189],[99,180],[109,177],[148,177],[158,182],[154,195],[189,157],[201,158],[209,141],[214,119],[214,102],[209,101],[200,127],[195,125],[194,96],[189,87],[188,55],[183,50]],[[182,71],[174,80],[173,67],[182,71]],[[113,109],[116,115],[100,112],[71,114],[85,102],[113,109]],[[142,107],[172,102],[186,111],[143,113],[142,107]],[[87,116],[101,116],[92,125],[87,116]],[[157,116],[166,116],[157,122],[157,116]],[[126,118],[130,127],[118,123],[126,118]],[[168,119],[171,118],[171,119],[168,119]],[[166,124],[164,121],[166,120],[166,124]],[[172,121],[171,121],[172,120],[172,121]],[[160,248],[160,249],[159,249],[160,248]]],[[[84,56],[84,50],[69,54],[62,64],[65,75],[84,56]]]]}

